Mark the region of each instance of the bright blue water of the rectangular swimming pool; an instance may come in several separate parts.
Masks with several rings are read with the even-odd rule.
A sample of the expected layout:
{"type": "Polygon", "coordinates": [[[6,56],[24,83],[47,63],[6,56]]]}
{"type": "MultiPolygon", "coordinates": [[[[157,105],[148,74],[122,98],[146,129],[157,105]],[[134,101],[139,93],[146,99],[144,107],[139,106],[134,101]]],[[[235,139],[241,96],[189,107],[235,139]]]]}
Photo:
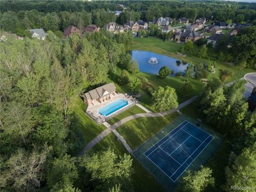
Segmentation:
{"type": "Polygon", "coordinates": [[[127,106],[129,102],[125,99],[119,99],[115,102],[109,103],[105,107],[102,107],[99,109],[99,114],[100,115],[105,115],[108,116],[110,114],[113,114],[117,110],[123,108],[124,106],[127,106]]]}

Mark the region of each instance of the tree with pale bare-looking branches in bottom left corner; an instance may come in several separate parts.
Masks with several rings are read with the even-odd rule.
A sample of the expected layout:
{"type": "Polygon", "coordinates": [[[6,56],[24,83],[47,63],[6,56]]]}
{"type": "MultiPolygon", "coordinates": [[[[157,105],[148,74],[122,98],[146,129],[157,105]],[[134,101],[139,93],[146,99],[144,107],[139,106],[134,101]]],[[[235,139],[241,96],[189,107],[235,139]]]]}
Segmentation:
{"type": "Polygon", "coordinates": [[[50,147],[45,146],[41,152],[34,149],[29,154],[24,149],[18,149],[7,161],[7,169],[1,175],[3,186],[6,189],[17,191],[34,191],[39,189],[44,163],[50,150],[50,147]]]}

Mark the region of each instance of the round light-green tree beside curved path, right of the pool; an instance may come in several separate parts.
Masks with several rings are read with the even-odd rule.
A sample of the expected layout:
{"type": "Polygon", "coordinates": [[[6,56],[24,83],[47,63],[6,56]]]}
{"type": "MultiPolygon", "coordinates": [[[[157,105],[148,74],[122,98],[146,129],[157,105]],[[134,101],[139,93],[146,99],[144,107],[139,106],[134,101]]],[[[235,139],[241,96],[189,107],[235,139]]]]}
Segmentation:
{"type": "Polygon", "coordinates": [[[153,108],[162,112],[178,107],[178,97],[174,88],[158,86],[158,89],[152,93],[153,108]]]}

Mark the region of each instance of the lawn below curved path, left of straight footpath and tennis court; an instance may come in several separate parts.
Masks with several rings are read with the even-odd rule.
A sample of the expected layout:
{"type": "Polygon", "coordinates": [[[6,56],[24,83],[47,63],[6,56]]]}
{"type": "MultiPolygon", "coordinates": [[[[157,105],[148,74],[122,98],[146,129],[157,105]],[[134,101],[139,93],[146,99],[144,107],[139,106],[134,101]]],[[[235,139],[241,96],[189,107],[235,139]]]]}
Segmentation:
{"type": "MultiPolygon", "coordinates": [[[[110,133],[107,137],[103,138],[99,143],[97,143],[89,153],[93,154],[99,150],[107,150],[111,147],[115,150],[118,155],[123,155],[124,153],[129,154],[121,141],[118,141],[114,133],[110,133]]],[[[148,191],[148,192],[164,192],[163,186],[154,178],[150,172],[148,172],[140,162],[132,156],[132,167],[134,169],[134,174],[132,175],[133,188],[134,191],[148,191]]]]}

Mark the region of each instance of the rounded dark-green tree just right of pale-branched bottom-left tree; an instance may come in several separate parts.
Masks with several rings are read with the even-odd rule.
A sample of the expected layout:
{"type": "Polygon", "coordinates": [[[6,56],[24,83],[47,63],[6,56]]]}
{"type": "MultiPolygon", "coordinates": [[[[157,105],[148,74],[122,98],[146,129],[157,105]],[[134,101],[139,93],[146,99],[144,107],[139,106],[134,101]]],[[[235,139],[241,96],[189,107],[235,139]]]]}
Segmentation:
{"type": "Polygon", "coordinates": [[[76,157],[70,157],[67,154],[60,158],[54,158],[47,176],[49,186],[53,187],[57,183],[71,185],[78,178],[75,162],[76,157]]]}

